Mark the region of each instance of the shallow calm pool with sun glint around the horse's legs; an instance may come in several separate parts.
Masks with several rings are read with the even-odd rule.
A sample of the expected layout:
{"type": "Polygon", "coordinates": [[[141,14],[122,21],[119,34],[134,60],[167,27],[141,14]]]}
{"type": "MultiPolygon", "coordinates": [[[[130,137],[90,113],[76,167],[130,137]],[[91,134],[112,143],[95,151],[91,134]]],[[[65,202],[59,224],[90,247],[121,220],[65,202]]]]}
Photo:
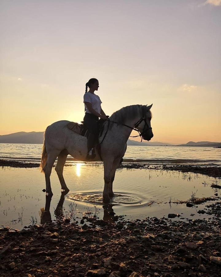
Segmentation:
{"type": "Polygon", "coordinates": [[[215,193],[221,196],[219,189],[211,188],[211,184],[218,184],[220,179],[177,171],[117,170],[113,185],[115,196],[110,205],[102,203],[103,165],[77,163],[64,167],[64,179],[70,190],[67,195],[61,193],[53,168],[52,198],[42,192],[45,177],[37,168],[6,167],[1,169],[0,176],[0,224],[15,229],[59,220],[60,216],[78,221],[84,215],[109,220],[114,213],[125,215],[125,219],[167,217],[169,213],[178,213],[180,218],[208,218],[209,215],[200,215],[197,211],[213,201],[192,208],[172,202],[188,200],[193,194],[198,198],[215,197],[215,193]]]}

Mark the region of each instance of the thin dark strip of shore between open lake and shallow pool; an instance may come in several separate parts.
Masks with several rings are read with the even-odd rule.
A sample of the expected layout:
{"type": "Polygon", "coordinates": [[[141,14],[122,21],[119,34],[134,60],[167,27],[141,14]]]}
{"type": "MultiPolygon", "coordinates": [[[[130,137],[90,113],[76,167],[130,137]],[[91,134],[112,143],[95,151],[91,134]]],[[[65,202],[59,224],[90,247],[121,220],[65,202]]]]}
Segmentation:
{"type": "MultiPolygon", "coordinates": [[[[102,162],[83,162],[85,164],[102,164],[102,162]]],[[[22,161],[2,160],[0,159],[1,167],[16,167],[16,168],[33,168],[39,167],[40,163],[28,163],[22,161]]],[[[73,164],[66,163],[64,166],[72,166],[73,164]]],[[[55,167],[55,165],[53,166],[55,167]]],[[[127,169],[161,169],[169,171],[180,171],[183,173],[192,172],[196,174],[207,175],[214,178],[221,178],[221,166],[198,166],[198,165],[153,165],[145,162],[126,162],[118,166],[118,168],[127,169]]]]}

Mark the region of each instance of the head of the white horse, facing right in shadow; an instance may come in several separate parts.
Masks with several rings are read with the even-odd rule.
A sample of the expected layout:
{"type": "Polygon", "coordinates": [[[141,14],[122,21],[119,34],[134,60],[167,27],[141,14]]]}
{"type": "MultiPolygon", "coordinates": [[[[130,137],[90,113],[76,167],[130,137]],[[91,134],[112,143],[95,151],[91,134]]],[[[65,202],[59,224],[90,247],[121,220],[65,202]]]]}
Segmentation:
{"type": "Polygon", "coordinates": [[[141,106],[143,120],[137,126],[137,129],[142,134],[143,139],[148,140],[148,141],[151,140],[151,138],[153,138],[153,132],[152,132],[151,123],[150,123],[151,118],[152,118],[150,108],[152,107],[152,105],[153,104],[151,104],[149,106],[147,106],[147,105],[141,106]]]}

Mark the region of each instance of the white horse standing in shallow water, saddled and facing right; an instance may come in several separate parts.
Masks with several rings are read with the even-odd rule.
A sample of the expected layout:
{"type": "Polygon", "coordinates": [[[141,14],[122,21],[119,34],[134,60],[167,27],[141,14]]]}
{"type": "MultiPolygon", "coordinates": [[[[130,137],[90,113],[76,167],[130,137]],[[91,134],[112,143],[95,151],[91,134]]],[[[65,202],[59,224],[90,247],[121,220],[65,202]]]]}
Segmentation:
{"type": "MultiPolygon", "coordinates": [[[[150,124],[152,117],[150,106],[126,106],[113,113],[109,120],[104,122],[103,134],[99,137],[100,154],[104,165],[104,190],[103,202],[107,203],[114,196],[113,181],[120,159],[126,152],[126,143],[134,127],[139,130],[143,139],[150,140],[153,132],[150,124]],[[113,122],[114,121],[114,122],[113,122]],[[116,124],[118,122],[118,124],[116,124]]],[[[44,144],[41,155],[41,172],[45,173],[46,194],[53,195],[50,184],[50,175],[53,164],[57,159],[55,170],[60,180],[61,189],[69,191],[63,177],[64,164],[67,155],[85,161],[87,155],[87,138],[68,129],[69,121],[61,120],[52,123],[45,130],[44,144]]],[[[95,150],[96,157],[91,161],[100,161],[100,156],[95,150]]]]}

